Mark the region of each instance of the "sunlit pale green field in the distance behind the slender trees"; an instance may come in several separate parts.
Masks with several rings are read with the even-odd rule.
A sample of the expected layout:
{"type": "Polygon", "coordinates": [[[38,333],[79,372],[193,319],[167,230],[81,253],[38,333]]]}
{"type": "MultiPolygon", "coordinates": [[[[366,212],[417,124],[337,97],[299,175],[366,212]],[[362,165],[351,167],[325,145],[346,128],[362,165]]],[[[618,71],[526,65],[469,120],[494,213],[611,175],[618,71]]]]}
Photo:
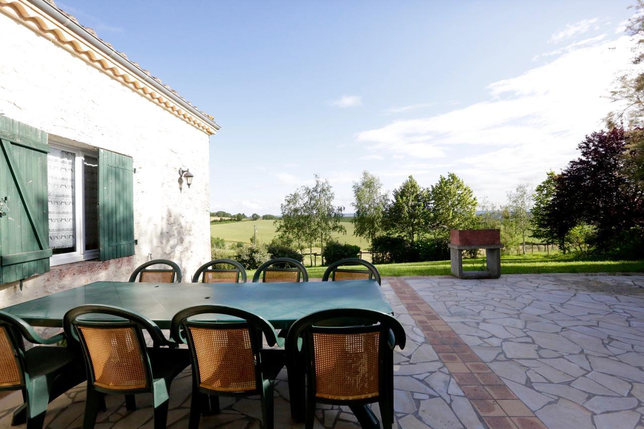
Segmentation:
{"type": "MultiPolygon", "coordinates": [[[[273,222],[272,220],[242,220],[230,224],[211,224],[210,232],[213,237],[221,237],[228,243],[251,243],[252,227],[257,225],[257,242],[269,243],[277,235],[273,222]]],[[[369,243],[354,236],[354,224],[343,222],[342,225],[346,229],[346,234],[334,234],[334,237],[341,243],[355,244],[366,251],[369,243]]],[[[319,252],[319,248],[314,247],[314,251],[316,249],[319,252]]]]}

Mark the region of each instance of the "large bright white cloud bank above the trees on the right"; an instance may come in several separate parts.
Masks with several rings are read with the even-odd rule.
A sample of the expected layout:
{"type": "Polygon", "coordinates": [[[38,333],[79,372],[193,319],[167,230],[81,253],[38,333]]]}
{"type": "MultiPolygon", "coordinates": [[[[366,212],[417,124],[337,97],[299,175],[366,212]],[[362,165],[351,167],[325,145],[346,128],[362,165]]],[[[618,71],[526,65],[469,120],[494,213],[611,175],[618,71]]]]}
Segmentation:
{"type": "MultiPolygon", "coordinates": [[[[489,99],[421,119],[399,120],[355,135],[393,159],[392,171],[461,175],[478,195],[499,203],[521,182],[539,183],[576,157],[587,133],[616,106],[607,99],[616,73],[630,66],[632,41],[578,43],[553,61],[493,82],[489,99]],[[404,161],[424,163],[415,171],[404,161]],[[437,158],[448,166],[432,166],[437,158]],[[404,162],[403,161],[403,162],[404,162]],[[452,164],[449,166],[449,164],[452,164]]],[[[433,179],[431,179],[433,180],[433,179]]]]}

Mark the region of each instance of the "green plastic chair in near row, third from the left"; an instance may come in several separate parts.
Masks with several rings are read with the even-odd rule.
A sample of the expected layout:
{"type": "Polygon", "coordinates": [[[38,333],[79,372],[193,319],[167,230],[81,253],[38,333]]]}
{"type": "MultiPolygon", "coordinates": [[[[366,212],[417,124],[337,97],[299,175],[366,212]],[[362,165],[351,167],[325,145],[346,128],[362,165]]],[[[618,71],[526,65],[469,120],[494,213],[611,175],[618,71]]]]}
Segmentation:
{"type": "Polygon", "coordinates": [[[178,312],[171,323],[172,337],[187,343],[193,365],[193,394],[188,427],[196,429],[202,414],[219,412],[219,396],[261,399],[264,429],[273,428],[273,385],[284,366],[284,351],[263,349],[283,345],[270,323],[247,311],[225,305],[198,305],[178,312]],[[232,316],[214,322],[200,314],[232,316]]]}

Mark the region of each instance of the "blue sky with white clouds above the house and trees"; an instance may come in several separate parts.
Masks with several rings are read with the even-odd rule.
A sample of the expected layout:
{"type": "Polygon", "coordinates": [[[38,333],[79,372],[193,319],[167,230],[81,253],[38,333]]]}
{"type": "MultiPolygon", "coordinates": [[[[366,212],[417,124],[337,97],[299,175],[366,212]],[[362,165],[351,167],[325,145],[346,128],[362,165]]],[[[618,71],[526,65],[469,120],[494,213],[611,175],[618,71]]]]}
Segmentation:
{"type": "Polygon", "coordinates": [[[346,213],[363,170],[387,191],[453,172],[495,204],[536,186],[615,108],[632,3],[57,1],[214,116],[191,172],[248,215],[315,173],[346,213]]]}

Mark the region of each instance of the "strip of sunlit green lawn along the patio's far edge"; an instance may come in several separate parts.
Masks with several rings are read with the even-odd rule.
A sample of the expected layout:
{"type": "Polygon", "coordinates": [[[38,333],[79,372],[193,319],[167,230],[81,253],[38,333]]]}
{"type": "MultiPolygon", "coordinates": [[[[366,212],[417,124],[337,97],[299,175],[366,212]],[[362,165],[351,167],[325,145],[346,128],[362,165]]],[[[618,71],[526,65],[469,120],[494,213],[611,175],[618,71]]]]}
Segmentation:
{"type": "MultiPolygon", "coordinates": [[[[485,258],[463,260],[463,269],[482,269],[485,258]]],[[[390,263],[376,265],[381,276],[444,276],[450,274],[450,261],[390,263]]],[[[307,267],[308,276],[321,278],[325,267],[307,267]]],[[[502,256],[502,274],[536,274],[548,272],[642,272],[644,261],[578,261],[568,256],[526,255],[502,256]]],[[[252,278],[253,270],[249,270],[252,278]]]]}

